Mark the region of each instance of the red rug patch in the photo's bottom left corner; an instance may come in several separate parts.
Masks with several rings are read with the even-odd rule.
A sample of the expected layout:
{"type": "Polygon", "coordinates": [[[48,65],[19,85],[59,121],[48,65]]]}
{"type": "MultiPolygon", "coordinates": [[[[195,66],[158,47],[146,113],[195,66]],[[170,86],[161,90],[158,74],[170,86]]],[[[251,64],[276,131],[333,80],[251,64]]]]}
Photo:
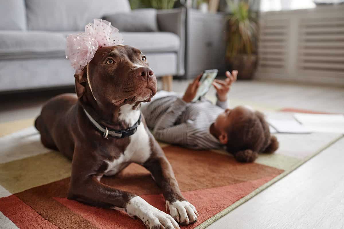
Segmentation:
{"type": "Polygon", "coordinates": [[[20,229],[58,229],[14,195],[0,199],[0,211],[20,229]]]}

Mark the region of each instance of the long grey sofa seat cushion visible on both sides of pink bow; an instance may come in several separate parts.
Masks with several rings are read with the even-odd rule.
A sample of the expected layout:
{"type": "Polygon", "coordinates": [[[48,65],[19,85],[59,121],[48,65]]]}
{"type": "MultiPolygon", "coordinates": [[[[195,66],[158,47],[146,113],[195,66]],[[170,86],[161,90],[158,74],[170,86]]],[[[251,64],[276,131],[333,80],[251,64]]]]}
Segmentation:
{"type": "MultiPolygon", "coordinates": [[[[79,32],[70,32],[79,33],[79,32]]],[[[64,58],[67,32],[0,31],[0,60],[64,58]]],[[[179,37],[169,32],[123,32],[124,44],[144,53],[178,52],[179,37]]]]}

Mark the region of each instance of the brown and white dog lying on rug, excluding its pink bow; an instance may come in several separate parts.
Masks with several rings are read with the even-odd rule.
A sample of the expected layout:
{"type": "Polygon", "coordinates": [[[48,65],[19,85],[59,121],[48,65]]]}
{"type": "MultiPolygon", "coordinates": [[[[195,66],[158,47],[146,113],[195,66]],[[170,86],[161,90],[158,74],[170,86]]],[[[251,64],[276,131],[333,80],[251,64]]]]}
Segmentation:
{"type": "Polygon", "coordinates": [[[140,112],[140,103],[157,92],[146,56],[127,45],[101,47],[75,74],[75,88],[77,96],[63,94],[47,101],[35,121],[43,145],[72,160],[68,199],[126,211],[150,229],[196,222],[195,207],[182,196],[172,167],[140,112]],[[102,176],[115,175],[131,162],[151,172],[172,217],[133,193],[100,182],[102,176]]]}

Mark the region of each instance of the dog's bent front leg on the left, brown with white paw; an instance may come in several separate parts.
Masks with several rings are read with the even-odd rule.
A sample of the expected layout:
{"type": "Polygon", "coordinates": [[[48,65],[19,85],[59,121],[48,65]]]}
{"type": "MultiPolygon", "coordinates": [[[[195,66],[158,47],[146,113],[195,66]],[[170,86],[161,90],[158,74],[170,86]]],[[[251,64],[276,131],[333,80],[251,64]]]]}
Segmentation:
{"type": "Polygon", "coordinates": [[[100,183],[96,175],[86,175],[84,171],[87,171],[87,161],[85,163],[82,160],[75,160],[76,157],[74,155],[72,162],[68,199],[126,211],[130,217],[140,218],[148,229],[180,229],[178,223],[169,214],[148,204],[141,197],[100,183]],[[79,168],[83,169],[78,170],[79,168]]]}

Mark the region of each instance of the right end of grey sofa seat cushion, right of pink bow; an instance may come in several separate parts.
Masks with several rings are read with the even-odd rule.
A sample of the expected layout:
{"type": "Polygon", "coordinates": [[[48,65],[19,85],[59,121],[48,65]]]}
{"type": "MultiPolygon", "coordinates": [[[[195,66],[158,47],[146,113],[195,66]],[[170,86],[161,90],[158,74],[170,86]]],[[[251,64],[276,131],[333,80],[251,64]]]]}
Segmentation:
{"type": "Polygon", "coordinates": [[[142,52],[178,52],[179,36],[169,32],[123,32],[124,44],[142,52]]]}

